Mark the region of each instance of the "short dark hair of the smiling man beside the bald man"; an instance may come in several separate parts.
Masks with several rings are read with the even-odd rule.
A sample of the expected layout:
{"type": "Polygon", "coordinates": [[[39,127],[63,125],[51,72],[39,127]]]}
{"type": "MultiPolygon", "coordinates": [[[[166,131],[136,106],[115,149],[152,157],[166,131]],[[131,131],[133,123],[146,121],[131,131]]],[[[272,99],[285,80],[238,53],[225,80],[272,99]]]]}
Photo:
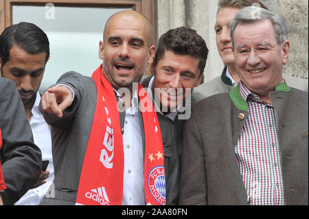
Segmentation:
{"type": "MultiPolygon", "coordinates": [[[[174,54],[188,55],[198,58],[198,69],[203,73],[206,65],[208,48],[204,39],[189,27],[178,27],[169,30],[159,38],[155,59],[152,67],[156,67],[159,60],[163,58],[165,51],[174,54]]],[[[200,76],[201,76],[200,74],[200,76]]]]}

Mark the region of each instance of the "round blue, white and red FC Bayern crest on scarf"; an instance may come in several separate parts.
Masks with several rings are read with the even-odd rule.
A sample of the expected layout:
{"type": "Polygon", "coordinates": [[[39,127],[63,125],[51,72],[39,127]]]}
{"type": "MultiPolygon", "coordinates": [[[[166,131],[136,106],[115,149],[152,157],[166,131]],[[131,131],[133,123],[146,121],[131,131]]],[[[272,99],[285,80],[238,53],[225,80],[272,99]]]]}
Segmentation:
{"type": "Polygon", "coordinates": [[[157,166],[150,171],[148,176],[148,185],[152,196],[160,203],[166,203],[166,189],[165,189],[165,169],[163,166],[157,166]]]}

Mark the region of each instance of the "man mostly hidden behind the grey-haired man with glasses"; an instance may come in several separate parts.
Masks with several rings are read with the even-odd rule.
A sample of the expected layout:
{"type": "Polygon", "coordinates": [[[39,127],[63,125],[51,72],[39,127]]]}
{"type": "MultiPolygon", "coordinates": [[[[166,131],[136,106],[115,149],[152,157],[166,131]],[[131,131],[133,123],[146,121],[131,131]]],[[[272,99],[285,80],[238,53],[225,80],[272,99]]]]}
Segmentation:
{"type": "MultiPolygon", "coordinates": [[[[225,93],[231,91],[238,84],[240,78],[236,72],[235,58],[231,47],[231,36],[229,25],[233,17],[242,8],[251,5],[258,6],[268,10],[266,5],[260,0],[219,0],[216,25],[216,45],[220,57],[225,65],[221,76],[218,76],[209,82],[201,84],[196,91],[203,93],[206,97],[216,93],[225,93]]],[[[301,89],[308,92],[308,80],[290,76],[283,73],[284,79],[290,87],[301,89]]]]}

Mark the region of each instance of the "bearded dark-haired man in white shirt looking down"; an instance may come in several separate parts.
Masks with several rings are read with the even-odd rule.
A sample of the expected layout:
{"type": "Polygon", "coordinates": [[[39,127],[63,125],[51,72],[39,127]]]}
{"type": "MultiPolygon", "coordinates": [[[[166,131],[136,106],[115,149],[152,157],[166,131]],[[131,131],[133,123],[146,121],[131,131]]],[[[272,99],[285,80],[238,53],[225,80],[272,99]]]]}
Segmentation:
{"type": "Polygon", "coordinates": [[[34,189],[28,190],[14,205],[38,205],[54,180],[50,127],[38,110],[41,101],[38,88],[49,60],[49,41],[43,30],[26,22],[11,25],[1,36],[0,45],[4,45],[1,76],[13,80],[19,90],[34,143],[41,149],[43,161],[43,170],[34,189]]]}

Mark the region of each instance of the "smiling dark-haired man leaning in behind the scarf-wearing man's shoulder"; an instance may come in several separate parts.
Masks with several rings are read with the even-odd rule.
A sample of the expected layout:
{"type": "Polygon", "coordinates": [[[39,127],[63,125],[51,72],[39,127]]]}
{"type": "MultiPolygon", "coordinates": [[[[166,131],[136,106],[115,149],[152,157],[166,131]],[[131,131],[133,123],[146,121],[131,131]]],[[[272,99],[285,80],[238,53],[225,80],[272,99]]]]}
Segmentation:
{"type": "Polygon", "coordinates": [[[185,111],[190,109],[191,103],[203,98],[192,92],[201,82],[207,54],[207,45],[195,30],[187,27],[169,30],[159,38],[151,67],[153,76],[142,82],[152,97],[161,127],[167,205],[178,205],[179,202],[183,124],[191,112],[185,111]]]}

